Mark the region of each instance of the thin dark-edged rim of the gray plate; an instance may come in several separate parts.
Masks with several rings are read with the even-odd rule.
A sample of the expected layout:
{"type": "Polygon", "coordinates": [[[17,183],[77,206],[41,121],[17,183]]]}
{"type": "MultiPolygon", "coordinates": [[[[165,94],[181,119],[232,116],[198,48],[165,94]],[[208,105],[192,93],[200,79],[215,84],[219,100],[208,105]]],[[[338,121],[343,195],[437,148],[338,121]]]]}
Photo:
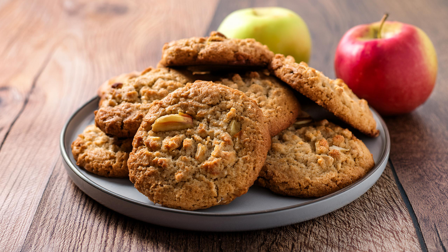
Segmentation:
{"type": "Polygon", "coordinates": [[[95,96],[93,98],[91,98],[90,100],[88,100],[86,103],[84,103],[81,107],[79,107],[76,111],[73,112],[73,114],[70,116],[69,120],[67,120],[67,122],[64,124],[64,127],[62,128],[62,131],[60,132],[60,138],[59,138],[59,147],[60,147],[60,152],[62,155],[62,158],[64,158],[64,161],[69,165],[70,169],[76,174],[78,175],[78,177],[80,177],[82,180],[86,181],[88,184],[92,185],[93,187],[95,187],[96,189],[107,193],[111,196],[114,196],[120,200],[123,201],[128,201],[129,203],[132,204],[137,204],[137,205],[141,205],[143,207],[148,207],[151,209],[155,209],[155,210],[159,210],[159,211],[168,211],[168,212],[173,212],[173,213],[177,213],[177,214],[190,214],[190,215],[198,215],[198,216],[215,216],[215,217],[219,217],[219,216],[241,216],[241,215],[255,215],[255,214],[266,214],[266,213],[271,213],[271,212],[279,212],[279,211],[283,211],[283,210],[288,210],[288,209],[294,209],[294,208],[298,208],[304,205],[310,205],[319,201],[324,201],[328,198],[331,198],[333,196],[339,195],[341,193],[344,193],[346,191],[348,191],[349,189],[357,186],[358,184],[361,184],[364,180],[366,180],[367,178],[369,178],[372,174],[375,173],[375,171],[377,171],[380,167],[381,164],[383,164],[383,162],[386,161],[388,154],[390,152],[390,147],[391,147],[391,142],[390,142],[390,135],[389,135],[389,129],[386,125],[386,123],[384,122],[383,118],[381,117],[381,115],[378,114],[377,111],[375,111],[375,109],[373,109],[372,107],[369,107],[370,110],[372,111],[373,114],[375,114],[378,119],[379,122],[381,124],[381,126],[384,129],[384,133],[385,133],[385,141],[386,141],[386,147],[383,149],[383,153],[381,154],[381,157],[379,159],[379,162],[375,164],[375,167],[372,168],[372,170],[370,170],[366,175],[364,175],[361,179],[359,179],[358,181],[356,181],[355,183],[342,188],[336,192],[333,192],[331,194],[328,194],[326,196],[322,196],[319,198],[316,198],[314,200],[310,200],[310,201],[306,201],[303,203],[299,203],[296,205],[290,205],[290,206],[285,206],[285,207],[280,207],[280,208],[276,208],[276,209],[267,209],[267,210],[259,210],[259,211],[251,211],[251,212],[239,212],[239,213],[233,213],[233,214],[224,214],[224,213],[205,213],[205,212],[195,212],[195,211],[188,211],[188,210],[181,210],[181,209],[172,209],[172,208],[162,208],[162,207],[158,207],[155,205],[148,205],[146,203],[140,202],[140,201],[136,201],[134,199],[122,196],[120,194],[117,194],[116,192],[112,192],[106,188],[103,188],[102,186],[100,186],[99,184],[96,184],[94,181],[92,181],[91,179],[89,179],[86,175],[82,174],[81,171],[79,171],[79,169],[77,167],[75,167],[75,165],[73,164],[73,162],[70,160],[69,155],[67,154],[67,152],[65,151],[65,135],[67,132],[67,128],[69,126],[69,124],[72,122],[73,118],[78,115],[78,113],[84,109],[86,106],[90,105],[90,103],[94,102],[95,100],[99,100],[99,96],[95,96]]]}

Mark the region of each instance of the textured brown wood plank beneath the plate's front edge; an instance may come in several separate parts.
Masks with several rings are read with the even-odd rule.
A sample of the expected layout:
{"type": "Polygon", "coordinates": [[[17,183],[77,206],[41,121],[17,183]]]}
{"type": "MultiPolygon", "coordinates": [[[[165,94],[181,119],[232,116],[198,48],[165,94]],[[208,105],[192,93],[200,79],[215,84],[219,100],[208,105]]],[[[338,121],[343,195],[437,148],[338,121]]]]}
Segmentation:
{"type": "Polygon", "coordinates": [[[390,167],[356,201],[333,213],[262,231],[194,232],[117,214],[81,192],[58,161],[23,250],[418,251],[390,167]]]}

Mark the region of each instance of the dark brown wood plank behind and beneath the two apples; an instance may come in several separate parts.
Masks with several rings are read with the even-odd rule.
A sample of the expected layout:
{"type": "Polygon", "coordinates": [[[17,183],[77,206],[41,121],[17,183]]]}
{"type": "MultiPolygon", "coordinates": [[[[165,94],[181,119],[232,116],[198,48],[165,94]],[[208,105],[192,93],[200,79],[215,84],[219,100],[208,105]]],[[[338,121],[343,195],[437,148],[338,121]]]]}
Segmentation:
{"type": "MultiPolygon", "coordinates": [[[[220,20],[238,4],[223,4],[220,20]]],[[[264,1],[246,1],[246,6],[265,6],[264,1]]],[[[313,40],[310,65],[334,77],[334,52],[342,35],[353,26],[378,21],[384,12],[390,20],[418,26],[431,38],[438,52],[439,69],[448,66],[448,2],[431,1],[278,1],[297,12],[307,23],[313,40]]],[[[214,28],[211,27],[211,30],[214,28]]],[[[410,205],[418,219],[428,250],[448,249],[448,73],[439,71],[430,99],[409,115],[385,118],[391,132],[391,160],[410,205]]]]}

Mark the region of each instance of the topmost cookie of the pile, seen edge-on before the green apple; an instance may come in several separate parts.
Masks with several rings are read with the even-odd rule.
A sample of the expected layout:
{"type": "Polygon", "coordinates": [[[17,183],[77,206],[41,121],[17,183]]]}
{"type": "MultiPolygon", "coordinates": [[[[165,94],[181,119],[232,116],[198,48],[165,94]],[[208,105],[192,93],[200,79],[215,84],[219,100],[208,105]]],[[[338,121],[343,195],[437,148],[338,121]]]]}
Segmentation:
{"type": "Polygon", "coordinates": [[[159,64],[265,68],[273,56],[274,53],[267,46],[253,38],[226,38],[223,34],[212,31],[210,37],[184,38],[165,43],[159,64]]]}

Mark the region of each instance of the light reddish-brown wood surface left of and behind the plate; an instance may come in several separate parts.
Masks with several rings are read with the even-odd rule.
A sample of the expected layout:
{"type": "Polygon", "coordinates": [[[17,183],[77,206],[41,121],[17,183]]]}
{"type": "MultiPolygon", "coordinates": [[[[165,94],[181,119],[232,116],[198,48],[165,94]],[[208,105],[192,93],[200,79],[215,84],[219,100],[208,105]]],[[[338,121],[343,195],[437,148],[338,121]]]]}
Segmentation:
{"type": "Polygon", "coordinates": [[[60,167],[58,137],[69,115],[108,77],[156,64],[166,41],[203,34],[215,6],[197,8],[192,0],[1,4],[0,248],[22,247],[60,167]]]}

